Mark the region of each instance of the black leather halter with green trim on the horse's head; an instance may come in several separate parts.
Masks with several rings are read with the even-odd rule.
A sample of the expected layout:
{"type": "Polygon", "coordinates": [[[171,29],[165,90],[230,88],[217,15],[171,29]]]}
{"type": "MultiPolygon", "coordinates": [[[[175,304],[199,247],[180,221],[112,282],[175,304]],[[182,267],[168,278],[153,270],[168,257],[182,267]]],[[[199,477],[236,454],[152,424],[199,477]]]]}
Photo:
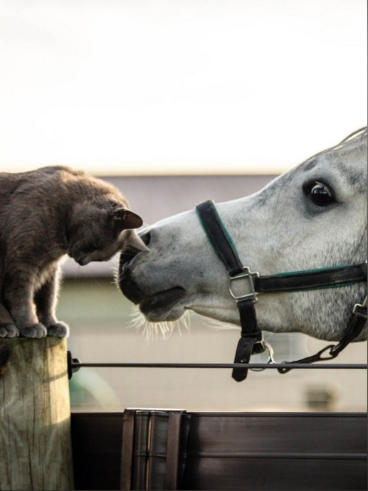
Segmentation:
{"type": "MultiPolygon", "coordinates": [[[[222,223],[213,201],[204,201],[196,206],[201,226],[206,232],[212,247],[228,270],[228,288],[231,297],[236,300],[241,321],[241,339],[238,341],[234,363],[248,364],[251,354],[270,352],[273,362],[272,348],[263,341],[263,334],[257,325],[255,304],[258,295],[266,292],[293,292],[315,290],[326,287],[343,287],[353,283],[367,282],[367,261],[359,265],[336,266],[316,270],[293,271],[277,275],[260,276],[258,272],[244,267],[239,259],[236,247],[224,223],[222,223]],[[239,286],[246,286],[246,292],[238,293],[239,286]]],[[[367,322],[367,297],[352,309],[352,317],[341,341],[322,349],[311,357],[291,363],[312,363],[337,357],[347,344],[357,338],[367,322]],[[330,350],[326,356],[323,354],[330,350]]],[[[282,374],[290,368],[278,369],[282,374]]],[[[240,382],[246,379],[248,368],[233,369],[233,379],[240,382]]]]}

